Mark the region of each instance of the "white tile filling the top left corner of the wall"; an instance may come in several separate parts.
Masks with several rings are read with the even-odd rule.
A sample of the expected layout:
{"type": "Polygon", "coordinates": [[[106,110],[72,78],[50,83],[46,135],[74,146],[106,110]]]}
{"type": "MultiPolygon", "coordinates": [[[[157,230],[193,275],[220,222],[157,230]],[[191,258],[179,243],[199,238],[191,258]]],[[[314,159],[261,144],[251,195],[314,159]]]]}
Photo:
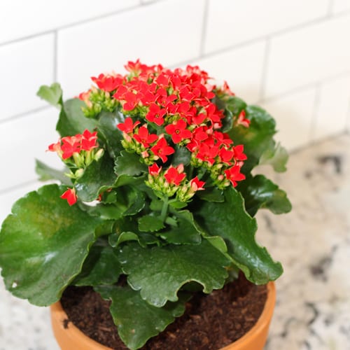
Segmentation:
{"type": "Polygon", "coordinates": [[[57,27],[97,18],[139,5],[139,0],[3,0],[0,1],[0,43],[57,27]]]}

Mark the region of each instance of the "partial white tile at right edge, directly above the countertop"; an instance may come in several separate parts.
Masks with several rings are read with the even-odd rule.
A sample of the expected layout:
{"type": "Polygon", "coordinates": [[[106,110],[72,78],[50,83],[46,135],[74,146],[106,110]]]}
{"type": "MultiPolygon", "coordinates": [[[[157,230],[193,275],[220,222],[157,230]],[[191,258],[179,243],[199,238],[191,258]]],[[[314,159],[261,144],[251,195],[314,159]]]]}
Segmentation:
{"type": "Polygon", "coordinates": [[[313,139],[318,140],[346,130],[350,106],[350,76],[321,85],[313,139]]]}

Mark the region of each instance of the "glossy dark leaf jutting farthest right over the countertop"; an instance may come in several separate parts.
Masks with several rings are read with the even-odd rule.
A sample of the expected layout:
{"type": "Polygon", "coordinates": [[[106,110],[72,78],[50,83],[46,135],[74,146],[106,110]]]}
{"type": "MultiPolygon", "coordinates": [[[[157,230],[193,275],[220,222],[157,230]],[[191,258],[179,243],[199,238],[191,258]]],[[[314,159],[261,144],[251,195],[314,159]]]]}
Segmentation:
{"type": "Polygon", "coordinates": [[[260,208],[269,209],[274,214],[288,213],[292,209],[286,193],[263,175],[247,177],[239,184],[239,192],[251,216],[255,216],[260,208]]]}

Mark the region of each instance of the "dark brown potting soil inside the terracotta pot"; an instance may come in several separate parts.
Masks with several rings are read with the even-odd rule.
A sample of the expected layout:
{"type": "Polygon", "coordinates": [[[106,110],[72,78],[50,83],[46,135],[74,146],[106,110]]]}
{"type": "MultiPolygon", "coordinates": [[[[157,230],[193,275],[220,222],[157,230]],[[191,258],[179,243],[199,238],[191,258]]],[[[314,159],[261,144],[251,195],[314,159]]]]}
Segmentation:
{"type": "MultiPolygon", "coordinates": [[[[266,297],[266,286],[255,286],[243,275],[209,295],[197,293],[186,303],[185,314],[176,318],[160,335],[148,340],[142,349],[220,349],[253,327],[266,297]]],[[[117,350],[127,349],[119,339],[109,313],[110,302],[102,300],[92,288],[69,287],[61,302],[68,315],[65,326],[69,327],[69,322],[72,322],[101,344],[117,350]]]]}

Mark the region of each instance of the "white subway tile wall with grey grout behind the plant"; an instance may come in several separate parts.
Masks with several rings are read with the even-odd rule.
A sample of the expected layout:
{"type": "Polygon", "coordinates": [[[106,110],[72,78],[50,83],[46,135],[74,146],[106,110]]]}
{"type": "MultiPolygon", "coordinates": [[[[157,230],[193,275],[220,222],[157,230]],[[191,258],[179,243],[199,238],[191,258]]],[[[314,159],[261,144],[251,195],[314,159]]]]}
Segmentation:
{"type": "Polygon", "coordinates": [[[39,85],[73,97],[128,60],[199,64],[264,106],[293,151],[349,132],[349,42],[350,0],[0,1],[0,221],[37,188],[34,158],[60,165],[39,85]]]}

